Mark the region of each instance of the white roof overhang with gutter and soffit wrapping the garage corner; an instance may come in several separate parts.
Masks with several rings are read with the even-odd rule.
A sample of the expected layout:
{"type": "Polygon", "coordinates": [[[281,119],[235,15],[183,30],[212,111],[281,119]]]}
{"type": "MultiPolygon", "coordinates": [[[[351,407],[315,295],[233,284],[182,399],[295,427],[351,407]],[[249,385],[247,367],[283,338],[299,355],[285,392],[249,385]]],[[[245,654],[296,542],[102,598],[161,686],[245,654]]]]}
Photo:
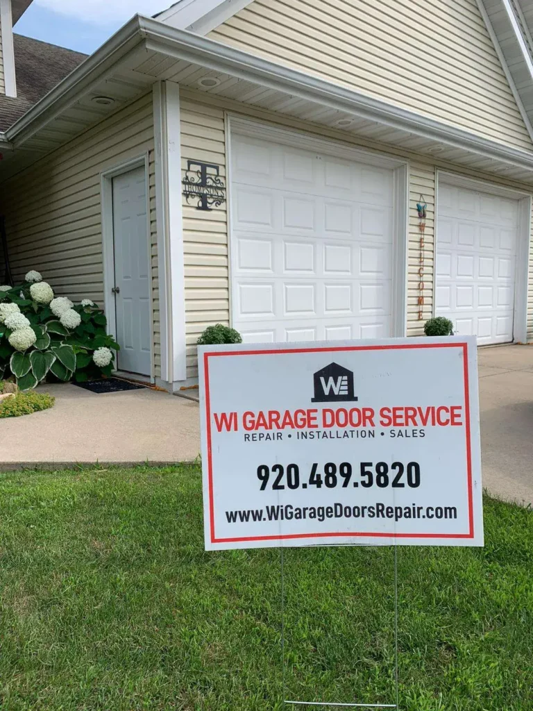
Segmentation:
{"type": "MultiPolygon", "coordinates": [[[[533,185],[533,153],[490,141],[359,92],[285,68],[158,20],[136,16],[6,132],[14,145],[0,164],[9,176],[149,90],[158,80],[303,119],[340,127],[402,154],[428,156],[533,185]],[[203,77],[216,86],[200,87],[203,77]],[[96,105],[99,95],[110,107],[96,105]],[[9,164],[11,167],[9,168],[9,164]],[[7,170],[6,170],[7,169],[7,170]]],[[[383,148],[385,150],[385,148],[383,148]]]]}

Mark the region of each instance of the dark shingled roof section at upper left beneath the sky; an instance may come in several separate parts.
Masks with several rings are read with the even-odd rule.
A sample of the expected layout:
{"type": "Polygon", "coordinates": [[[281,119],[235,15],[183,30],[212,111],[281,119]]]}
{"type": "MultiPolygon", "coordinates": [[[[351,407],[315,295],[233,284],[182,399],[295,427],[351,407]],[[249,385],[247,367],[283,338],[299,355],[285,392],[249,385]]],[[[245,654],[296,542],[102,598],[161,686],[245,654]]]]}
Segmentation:
{"type": "Polygon", "coordinates": [[[16,98],[0,95],[0,131],[5,131],[87,58],[64,47],[13,35],[16,98]]]}

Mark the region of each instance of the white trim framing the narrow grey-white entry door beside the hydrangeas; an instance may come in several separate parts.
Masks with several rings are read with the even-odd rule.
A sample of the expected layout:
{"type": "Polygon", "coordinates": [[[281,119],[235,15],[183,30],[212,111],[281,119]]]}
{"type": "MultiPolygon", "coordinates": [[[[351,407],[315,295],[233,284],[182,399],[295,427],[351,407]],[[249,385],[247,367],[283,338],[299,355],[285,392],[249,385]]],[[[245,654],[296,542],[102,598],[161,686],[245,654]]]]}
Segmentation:
{"type": "MultiPolygon", "coordinates": [[[[129,161],[124,161],[117,166],[100,173],[102,196],[102,257],[104,267],[104,313],[107,317],[107,333],[117,337],[117,311],[111,289],[114,286],[114,229],[113,229],[113,178],[129,173],[136,168],[144,168],[146,184],[146,248],[148,250],[148,264],[151,264],[151,233],[150,233],[150,180],[149,180],[149,155],[144,153],[129,161]]],[[[150,269],[151,272],[151,269],[150,269]]],[[[150,382],[155,383],[154,362],[154,304],[153,284],[150,274],[149,279],[149,304],[150,304],[150,382]]]]}

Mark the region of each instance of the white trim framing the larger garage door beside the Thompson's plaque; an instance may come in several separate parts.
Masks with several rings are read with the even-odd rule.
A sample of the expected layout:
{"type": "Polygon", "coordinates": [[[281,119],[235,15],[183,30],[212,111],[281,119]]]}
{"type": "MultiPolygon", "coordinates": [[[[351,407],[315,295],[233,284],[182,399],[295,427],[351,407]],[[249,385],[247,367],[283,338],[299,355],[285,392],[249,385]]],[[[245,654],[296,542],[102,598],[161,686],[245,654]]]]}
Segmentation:
{"type": "Polygon", "coordinates": [[[318,151],[345,160],[392,170],[392,274],[391,274],[391,336],[407,335],[407,269],[409,248],[409,174],[407,159],[361,149],[343,141],[320,135],[288,129],[243,117],[242,114],[225,113],[226,132],[226,186],[227,186],[227,249],[228,286],[230,291],[230,326],[233,326],[233,275],[232,275],[232,133],[252,138],[274,141],[304,150],[318,151]]]}

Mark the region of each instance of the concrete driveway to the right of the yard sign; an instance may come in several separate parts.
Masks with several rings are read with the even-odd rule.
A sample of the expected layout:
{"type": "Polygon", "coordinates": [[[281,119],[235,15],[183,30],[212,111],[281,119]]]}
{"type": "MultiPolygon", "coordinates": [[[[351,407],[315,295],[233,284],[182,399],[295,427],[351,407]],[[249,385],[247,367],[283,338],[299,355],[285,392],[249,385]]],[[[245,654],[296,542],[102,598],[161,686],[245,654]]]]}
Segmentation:
{"type": "Polygon", "coordinates": [[[478,351],[483,485],[533,504],[533,346],[478,351]]]}

